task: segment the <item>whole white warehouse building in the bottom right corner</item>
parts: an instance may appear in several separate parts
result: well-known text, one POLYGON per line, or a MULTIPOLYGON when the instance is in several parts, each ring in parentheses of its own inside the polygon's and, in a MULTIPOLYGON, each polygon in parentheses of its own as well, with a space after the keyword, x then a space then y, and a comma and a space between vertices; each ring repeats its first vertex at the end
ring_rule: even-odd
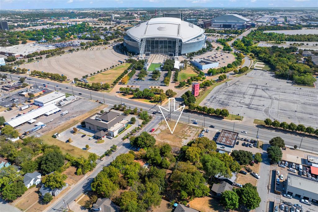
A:
POLYGON ((288 173, 286 179, 286 194, 294 197, 318 201, 318 181, 308 177, 288 173))

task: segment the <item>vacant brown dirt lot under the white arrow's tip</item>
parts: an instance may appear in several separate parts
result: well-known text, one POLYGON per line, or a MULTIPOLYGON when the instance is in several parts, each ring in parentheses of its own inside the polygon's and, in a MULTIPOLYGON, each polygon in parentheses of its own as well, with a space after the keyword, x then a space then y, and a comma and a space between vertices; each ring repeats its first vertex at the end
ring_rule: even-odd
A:
MULTIPOLYGON (((168 121, 170 129, 172 130, 176 122, 168 121)), ((199 127, 194 127, 184 123, 178 123, 176 129, 171 134, 166 122, 163 120, 152 136, 156 138, 156 143, 167 143, 174 147, 181 147, 186 145, 189 141, 197 137, 200 132, 199 127)))

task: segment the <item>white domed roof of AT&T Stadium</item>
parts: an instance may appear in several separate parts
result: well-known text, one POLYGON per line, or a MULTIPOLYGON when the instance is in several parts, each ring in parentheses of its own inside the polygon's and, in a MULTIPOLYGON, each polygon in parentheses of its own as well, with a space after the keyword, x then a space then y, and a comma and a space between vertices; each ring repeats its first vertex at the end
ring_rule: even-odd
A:
POLYGON ((132 39, 140 42, 143 38, 172 38, 186 42, 204 33, 204 29, 180 18, 152 18, 127 31, 132 39))

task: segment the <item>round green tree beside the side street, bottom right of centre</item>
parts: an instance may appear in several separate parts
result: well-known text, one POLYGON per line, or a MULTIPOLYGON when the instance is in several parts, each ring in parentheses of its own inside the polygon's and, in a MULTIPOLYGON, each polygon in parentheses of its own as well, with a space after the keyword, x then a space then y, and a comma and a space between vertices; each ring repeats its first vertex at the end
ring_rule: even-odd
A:
POLYGON ((242 188, 235 189, 239 196, 240 204, 244 205, 247 209, 253 210, 259 207, 261 198, 256 190, 256 187, 251 183, 246 183, 242 188))

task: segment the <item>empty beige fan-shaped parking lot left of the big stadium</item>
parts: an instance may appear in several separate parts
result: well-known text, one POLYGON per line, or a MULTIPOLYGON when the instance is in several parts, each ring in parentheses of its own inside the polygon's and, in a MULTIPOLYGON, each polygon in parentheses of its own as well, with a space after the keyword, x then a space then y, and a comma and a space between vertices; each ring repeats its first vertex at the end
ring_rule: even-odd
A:
POLYGON ((55 56, 48 59, 39 60, 25 65, 21 68, 30 70, 38 70, 50 73, 64 74, 70 79, 74 77, 81 78, 86 74, 97 72, 100 69, 109 68, 112 65, 119 64, 119 60, 123 61, 126 55, 117 53, 105 46, 92 47, 91 50, 80 50, 78 52, 66 53, 61 56, 55 56), (100 50, 96 50, 100 48, 100 50))

